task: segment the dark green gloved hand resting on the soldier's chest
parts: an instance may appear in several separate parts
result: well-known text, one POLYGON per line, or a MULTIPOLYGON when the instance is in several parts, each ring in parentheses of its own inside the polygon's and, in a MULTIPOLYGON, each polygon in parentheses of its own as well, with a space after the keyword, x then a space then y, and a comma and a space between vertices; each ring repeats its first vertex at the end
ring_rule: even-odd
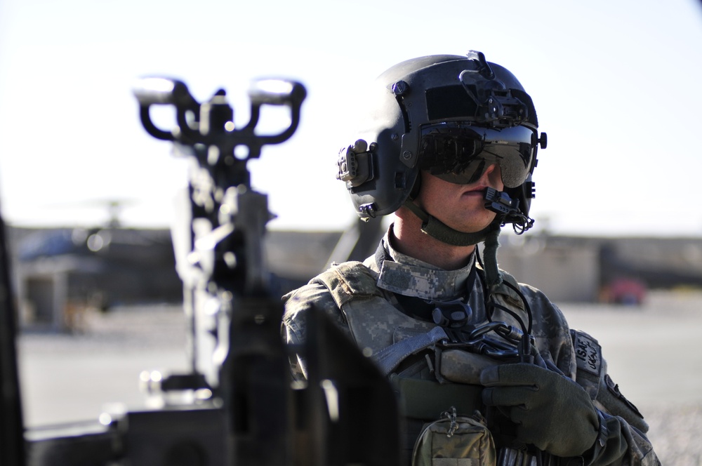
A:
POLYGON ((580 456, 597 439, 600 418, 583 388, 534 364, 503 364, 480 373, 482 399, 517 427, 517 440, 552 455, 580 456))

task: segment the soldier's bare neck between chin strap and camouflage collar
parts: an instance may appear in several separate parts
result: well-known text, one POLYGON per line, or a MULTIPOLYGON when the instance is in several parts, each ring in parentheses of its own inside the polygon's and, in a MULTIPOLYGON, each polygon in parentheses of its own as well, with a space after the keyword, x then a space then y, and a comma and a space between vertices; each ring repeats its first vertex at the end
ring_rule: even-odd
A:
POLYGON ((422 260, 444 270, 456 270, 468 265, 475 246, 451 246, 421 231, 416 215, 398 211, 392 228, 392 246, 398 252, 422 260))

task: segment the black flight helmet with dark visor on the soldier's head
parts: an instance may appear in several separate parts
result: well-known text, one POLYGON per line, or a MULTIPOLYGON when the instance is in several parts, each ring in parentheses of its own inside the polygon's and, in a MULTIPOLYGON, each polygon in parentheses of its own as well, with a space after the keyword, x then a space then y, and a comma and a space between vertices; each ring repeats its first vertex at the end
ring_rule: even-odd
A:
POLYGON ((418 192, 420 170, 470 183, 493 163, 528 218, 536 149, 546 140, 538 137, 531 98, 508 69, 474 51, 430 55, 391 67, 374 89, 355 142, 338 160, 337 178, 360 218, 397 211, 418 192))

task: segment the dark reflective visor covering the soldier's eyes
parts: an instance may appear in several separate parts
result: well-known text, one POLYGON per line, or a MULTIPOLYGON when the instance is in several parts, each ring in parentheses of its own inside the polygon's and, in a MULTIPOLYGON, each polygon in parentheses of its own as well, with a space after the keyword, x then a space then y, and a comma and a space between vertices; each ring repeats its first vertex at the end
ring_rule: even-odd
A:
POLYGON ((536 135, 524 126, 480 128, 460 122, 423 126, 419 168, 458 185, 476 182, 491 165, 500 166, 505 187, 527 179, 536 135))

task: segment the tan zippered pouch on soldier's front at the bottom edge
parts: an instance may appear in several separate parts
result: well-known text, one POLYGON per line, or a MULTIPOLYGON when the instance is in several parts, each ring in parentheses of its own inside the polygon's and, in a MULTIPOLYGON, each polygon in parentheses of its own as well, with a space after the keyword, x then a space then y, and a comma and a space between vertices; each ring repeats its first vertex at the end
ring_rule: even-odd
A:
POLYGON ((425 425, 414 445, 412 466, 494 466, 495 441, 479 413, 456 415, 456 408, 425 425))

